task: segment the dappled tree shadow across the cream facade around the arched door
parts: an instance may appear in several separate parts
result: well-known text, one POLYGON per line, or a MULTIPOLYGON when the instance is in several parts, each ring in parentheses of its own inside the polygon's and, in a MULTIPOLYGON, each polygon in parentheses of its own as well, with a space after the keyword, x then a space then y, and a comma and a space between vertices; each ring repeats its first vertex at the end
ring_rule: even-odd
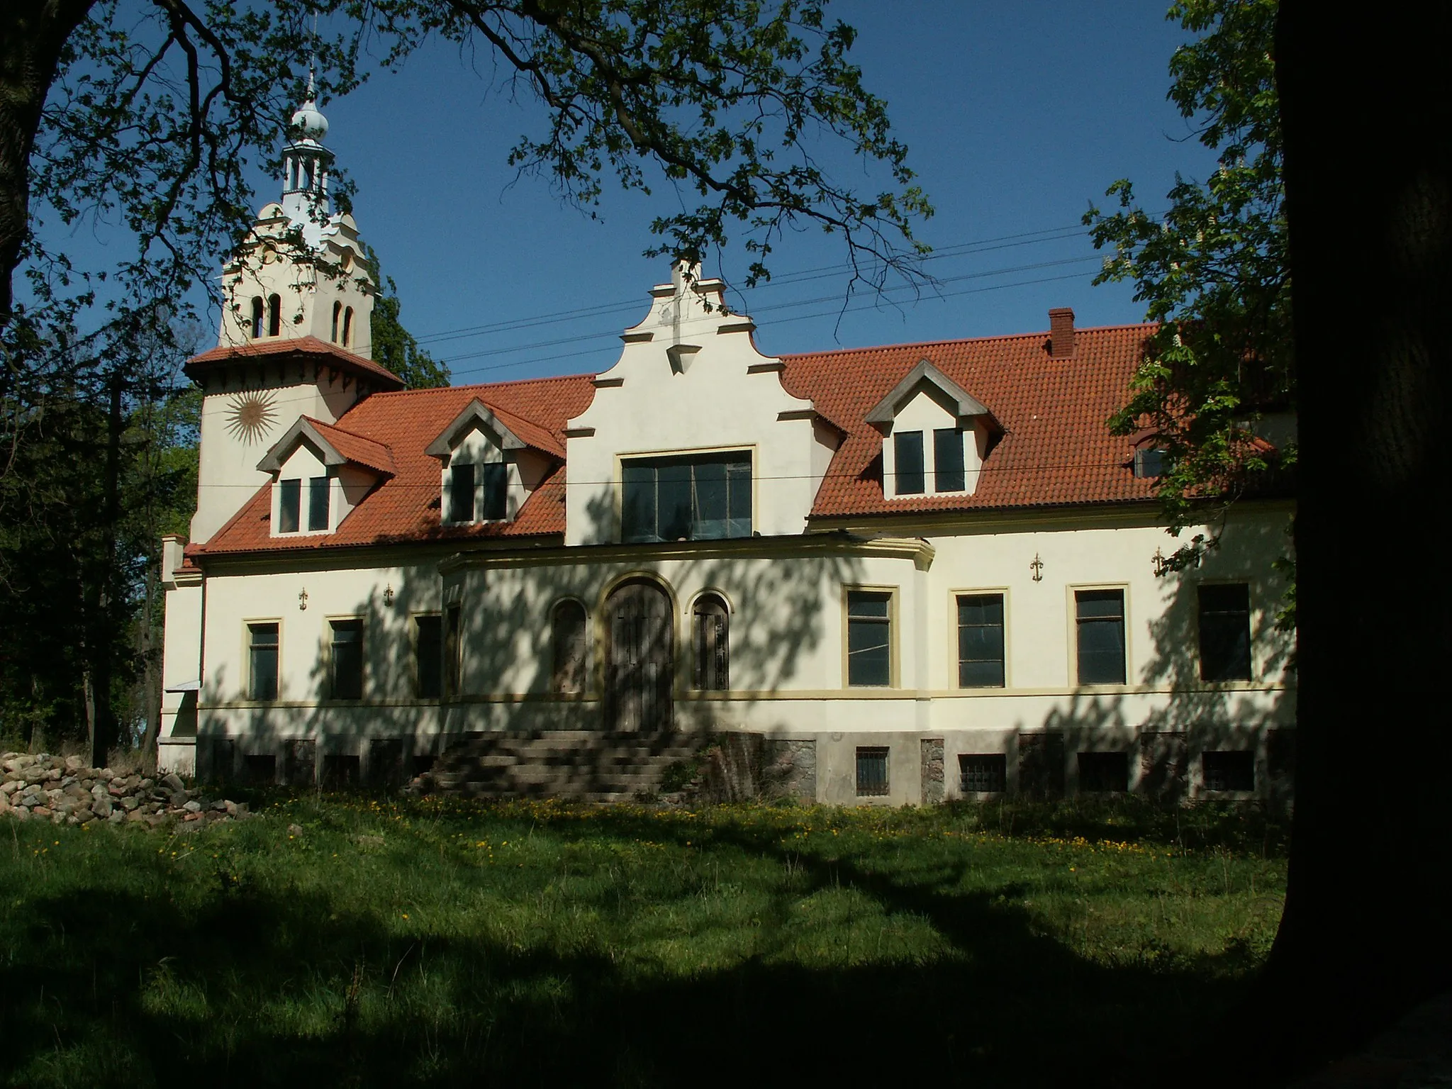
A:
MULTIPOLYGON (((590 517, 598 524, 614 515, 597 505, 590 517)), ((427 562, 402 571, 380 568, 375 575, 360 569, 357 582, 367 590, 357 597, 346 603, 322 601, 321 594, 309 598, 308 610, 324 616, 324 635, 315 645, 285 640, 285 655, 308 662, 305 693, 289 691, 277 703, 213 709, 211 714, 203 707, 199 775, 396 787, 427 770, 449 746, 485 735, 604 733, 610 682, 605 643, 611 637, 605 601, 611 588, 627 579, 655 581, 671 597, 674 732, 704 739, 739 729, 762 700, 793 682, 820 652, 828 626, 841 623, 841 587, 861 581, 862 563, 847 540, 803 558, 784 556, 775 542, 761 537, 706 544, 716 553, 722 552, 716 546, 723 546, 729 555, 691 558, 680 546, 636 546, 635 555, 621 560, 616 546, 584 546, 572 547, 563 562, 559 549, 539 556, 524 550, 521 558, 518 544, 501 540, 434 552, 427 562), (666 552, 669 559, 655 555, 666 552), (730 700, 703 697, 691 687, 691 605, 698 591, 720 594, 732 610, 730 700), (552 613, 566 600, 579 601, 590 621, 587 680, 584 690, 574 693, 556 691, 555 684, 552 613), (430 698, 420 694, 417 617, 446 617, 454 604, 462 620, 459 691, 430 698), (328 629, 341 617, 362 620, 363 700, 331 698, 328 629)), ((905 565, 910 569, 910 562, 905 565)), ((318 562, 317 569, 327 571, 327 562, 318 562)), ((833 674, 832 682, 836 680, 833 674)), ((227 693, 238 682, 221 665, 206 687, 212 694, 227 693)), ((784 722, 751 726, 765 733, 784 727, 784 722)), ((653 749, 680 743, 672 732, 629 741, 653 749)), ((576 778, 600 778, 619 752, 581 743, 572 759, 576 778)))

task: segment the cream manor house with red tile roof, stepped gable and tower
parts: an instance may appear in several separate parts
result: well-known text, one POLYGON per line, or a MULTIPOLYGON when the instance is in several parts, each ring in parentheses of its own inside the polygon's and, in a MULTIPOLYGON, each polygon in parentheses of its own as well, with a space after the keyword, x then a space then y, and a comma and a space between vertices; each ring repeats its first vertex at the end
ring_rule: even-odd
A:
POLYGON ((167 768, 385 780, 460 739, 759 735, 829 803, 1269 797, 1289 504, 1178 542, 1114 437, 1144 325, 767 356, 677 263, 598 375, 409 391, 370 359, 327 122, 224 269, 167 768), (569 733, 576 732, 576 733, 569 733))

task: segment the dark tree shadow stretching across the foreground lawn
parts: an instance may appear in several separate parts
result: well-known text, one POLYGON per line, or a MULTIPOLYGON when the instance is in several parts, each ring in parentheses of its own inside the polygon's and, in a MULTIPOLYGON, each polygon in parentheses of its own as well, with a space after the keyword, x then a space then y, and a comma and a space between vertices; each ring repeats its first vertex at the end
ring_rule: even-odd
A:
MULTIPOLYGON (((447 817, 441 817, 447 826, 447 817)), ((556 826, 563 838, 569 828, 556 826)), ((662 836, 621 812, 579 833, 662 836)), ((706 829, 681 828, 684 839, 706 829)), ((1021 889, 954 893, 970 865, 881 873, 780 828, 701 839, 796 874, 787 900, 852 889, 926 921, 954 957, 813 968, 756 955, 694 976, 652 973, 569 942, 414 938, 293 881, 180 900, 33 897, 0 970, 10 1083, 205 1085, 812 1083, 1156 1085, 1240 995, 1207 966, 1106 967, 1035 929, 1021 889), (258 1011, 266 1008, 266 1015, 258 1011), (22 1072, 22 1073, 17 1073, 22 1072), (54 1076, 48 1074, 54 1072, 54 1076), (15 1079, 22 1080, 16 1082, 15 1079)), ((423 845, 418 845, 423 847, 423 845)), ((441 851, 443 848, 440 848, 441 851)), ((16 902, 20 903, 20 902, 16 902)), ((17 925, 17 926, 16 926, 17 925)), ((770 947, 770 942, 765 945, 770 947)))

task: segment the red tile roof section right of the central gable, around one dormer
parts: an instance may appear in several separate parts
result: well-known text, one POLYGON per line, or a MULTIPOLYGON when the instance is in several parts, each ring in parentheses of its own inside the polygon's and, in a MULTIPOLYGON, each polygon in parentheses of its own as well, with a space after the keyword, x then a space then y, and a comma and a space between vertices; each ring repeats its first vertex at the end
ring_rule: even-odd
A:
POLYGON ((1056 507, 1149 499, 1156 482, 1133 472, 1134 441, 1105 421, 1128 399, 1153 325, 1074 331, 1074 353, 1050 354, 1050 334, 982 337, 783 356, 787 392, 809 398, 847 439, 817 491, 813 518, 1056 507), (883 436, 865 417, 929 360, 982 401, 1003 427, 973 495, 883 497, 883 436))

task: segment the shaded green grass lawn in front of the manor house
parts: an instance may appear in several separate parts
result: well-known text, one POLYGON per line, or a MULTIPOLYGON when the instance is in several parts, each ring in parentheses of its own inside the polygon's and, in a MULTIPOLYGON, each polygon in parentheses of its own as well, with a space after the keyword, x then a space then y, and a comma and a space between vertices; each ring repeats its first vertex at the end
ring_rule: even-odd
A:
POLYGON ((1130 799, 254 806, 0 822, 4 1083, 1163 1083, 1285 886, 1276 825, 1130 799))

